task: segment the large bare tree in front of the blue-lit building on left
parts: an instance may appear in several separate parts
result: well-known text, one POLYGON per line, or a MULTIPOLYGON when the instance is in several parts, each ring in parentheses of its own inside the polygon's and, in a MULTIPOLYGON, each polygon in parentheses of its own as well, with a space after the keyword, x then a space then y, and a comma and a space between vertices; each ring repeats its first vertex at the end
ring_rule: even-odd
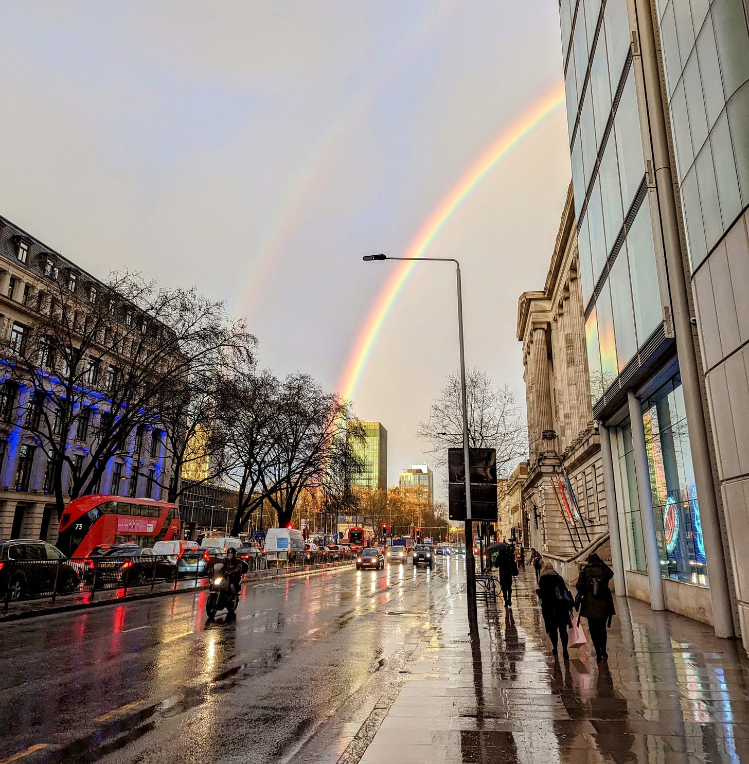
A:
POLYGON ((24 429, 47 452, 58 516, 64 494, 99 490, 112 457, 137 461, 139 427, 181 426, 164 416, 167 401, 254 342, 222 303, 126 271, 102 285, 55 270, 34 307, 34 323, 11 335, 5 360, 12 381, 33 391, 24 429))

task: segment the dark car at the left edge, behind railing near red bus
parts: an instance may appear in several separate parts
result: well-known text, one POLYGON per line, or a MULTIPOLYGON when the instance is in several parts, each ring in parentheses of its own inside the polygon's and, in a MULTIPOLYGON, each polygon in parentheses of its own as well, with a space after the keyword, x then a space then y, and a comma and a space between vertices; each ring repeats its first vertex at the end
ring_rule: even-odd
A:
POLYGON ((70 594, 81 580, 79 567, 56 546, 34 539, 0 543, 0 596, 12 601, 40 594, 70 594))

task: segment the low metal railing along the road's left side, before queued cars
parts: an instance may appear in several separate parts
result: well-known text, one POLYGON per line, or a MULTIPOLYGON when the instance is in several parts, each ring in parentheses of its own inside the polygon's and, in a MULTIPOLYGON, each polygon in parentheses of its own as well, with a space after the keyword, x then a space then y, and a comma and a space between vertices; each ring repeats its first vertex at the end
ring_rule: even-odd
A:
MULTIPOLYGON (((202 551, 202 550, 201 550, 202 551)), ((289 573, 316 570, 352 562, 356 555, 352 552, 271 552, 267 555, 242 557, 245 575, 260 571, 289 573)), ((178 588, 179 581, 192 579, 195 585, 207 580, 216 562, 223 557, 206 559, 200 555, 123 555, 92 558, 72 558, 57 560, 2 560, 0 561, 0 598, 4 609, 11 603, 30 599, 51 598, 72 594, 88 593, 89 601, 96 592, 121 590, 127 596, 132 589, 142 590, 155 584, 173 582, 178 588)))

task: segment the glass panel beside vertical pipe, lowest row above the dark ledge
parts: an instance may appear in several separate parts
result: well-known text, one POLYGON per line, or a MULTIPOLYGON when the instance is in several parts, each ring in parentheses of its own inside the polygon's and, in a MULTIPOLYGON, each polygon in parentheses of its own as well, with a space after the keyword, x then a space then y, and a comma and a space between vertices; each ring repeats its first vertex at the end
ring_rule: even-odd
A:
MULTIPOLYGON (((640 206, 631 228, 627 231, 626 245, 639 347, 663 321, 653 228, 650 225, 650 208, 647 205, 647 199, 640 206)), ((622 257, 622 254, 620 252, 619 257, 622 257)))

